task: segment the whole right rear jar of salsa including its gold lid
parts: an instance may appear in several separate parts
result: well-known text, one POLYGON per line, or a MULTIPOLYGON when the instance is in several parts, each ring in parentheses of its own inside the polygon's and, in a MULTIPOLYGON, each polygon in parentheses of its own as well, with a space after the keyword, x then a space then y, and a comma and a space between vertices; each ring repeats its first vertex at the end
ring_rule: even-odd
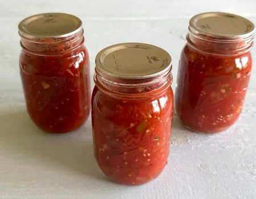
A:
POLYGON ((251 74, 254 29, 249 20, 227 13, 190 20, 175 92, 177 115, 185 126, 215 133, 237 120, 251 74))

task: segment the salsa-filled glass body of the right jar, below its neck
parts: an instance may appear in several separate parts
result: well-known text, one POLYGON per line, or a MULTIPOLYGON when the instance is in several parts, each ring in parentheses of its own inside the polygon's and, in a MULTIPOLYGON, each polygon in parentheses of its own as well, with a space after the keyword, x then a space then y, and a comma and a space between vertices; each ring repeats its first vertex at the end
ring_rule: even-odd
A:
MULTIPOLYGON (((203 42, 210 51, 192 47, 189 39, 181 52, 175 92, 175 109, 186 127, 196 132, 216 133, 239 117, 251 72, 249 51, 221 55, 214 43, 203 42)), ((229 49, 234 47, 229 44, 229 49)), ((221 49, 226 47, 221 43, 221 49)))

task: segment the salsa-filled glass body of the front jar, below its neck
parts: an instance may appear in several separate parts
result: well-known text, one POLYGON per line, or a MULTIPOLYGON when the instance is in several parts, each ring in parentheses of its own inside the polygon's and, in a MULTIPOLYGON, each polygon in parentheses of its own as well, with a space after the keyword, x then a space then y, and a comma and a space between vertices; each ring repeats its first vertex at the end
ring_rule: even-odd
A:
MULTIPOLYGON (((141 98, 92 94, 94 156, 115 183, 140 185, 155 179, 167 164, 174 95, 170 86, 141 98)), ((135 96, 134 94, 129 94, 135 96)))

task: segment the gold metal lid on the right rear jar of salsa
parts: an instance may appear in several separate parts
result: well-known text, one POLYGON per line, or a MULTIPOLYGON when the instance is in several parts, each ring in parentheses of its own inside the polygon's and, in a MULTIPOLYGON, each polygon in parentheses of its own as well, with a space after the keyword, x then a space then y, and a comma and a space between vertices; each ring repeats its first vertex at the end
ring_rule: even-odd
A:
POLYGON ((250 20, 229 13, 201 13, 189 21, 189 29, 216 38, 245 38, 254 34, 250 20))

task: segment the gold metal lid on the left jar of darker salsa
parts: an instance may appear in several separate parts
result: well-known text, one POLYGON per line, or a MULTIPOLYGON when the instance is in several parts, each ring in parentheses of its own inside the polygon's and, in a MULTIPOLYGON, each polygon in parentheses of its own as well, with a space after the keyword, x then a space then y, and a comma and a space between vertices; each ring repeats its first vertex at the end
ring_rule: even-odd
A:
POLYGON ((64 13, 44 13, 30 16, 19 23, 19 34, 26 38, 63 38, 82 29, 82 21, 64 13))

